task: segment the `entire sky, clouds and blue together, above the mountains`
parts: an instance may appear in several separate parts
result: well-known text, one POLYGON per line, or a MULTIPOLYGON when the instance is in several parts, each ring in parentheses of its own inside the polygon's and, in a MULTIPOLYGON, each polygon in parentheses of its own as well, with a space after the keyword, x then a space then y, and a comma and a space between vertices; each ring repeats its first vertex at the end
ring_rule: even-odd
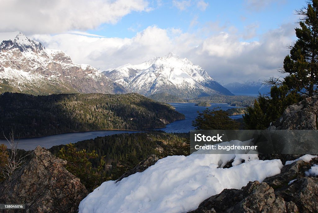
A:
POLYGON ((174 52, 226 84, 281 75, 286 47, 296 39, 295 10, 306 0, 5 0, 2 5, 0 39, 20 31, 100 71, 174 52))

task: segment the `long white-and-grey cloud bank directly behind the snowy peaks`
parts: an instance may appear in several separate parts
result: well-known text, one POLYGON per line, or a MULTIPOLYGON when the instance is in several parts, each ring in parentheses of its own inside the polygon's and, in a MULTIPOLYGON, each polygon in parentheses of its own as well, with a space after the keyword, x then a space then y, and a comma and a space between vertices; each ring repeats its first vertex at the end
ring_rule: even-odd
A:
POLYGON ((139 64, 155 56, 175 52, 203 67, 214 79, 229 83, 278 76, 287 45, 294 39, 295 24, 268 31, 259 41, 242 42, 242 35, 200 33, 149 26, 133 38, 99 38, 79 34, 33 35, 49 49, 61 49, 76 63, 106 70, 123 64, 139 64))

